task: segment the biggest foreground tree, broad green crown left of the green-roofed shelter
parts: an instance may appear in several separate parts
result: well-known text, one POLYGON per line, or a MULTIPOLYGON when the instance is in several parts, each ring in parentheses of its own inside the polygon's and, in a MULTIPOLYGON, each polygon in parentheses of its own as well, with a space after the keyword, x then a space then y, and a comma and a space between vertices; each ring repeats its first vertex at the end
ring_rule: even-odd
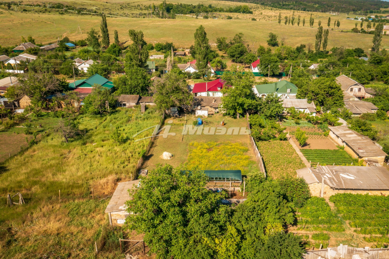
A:
MULTIPOLYGON (((226 231, 230 209, 221 205, 223 193, 205 188, 208 179, 200 170, 158 165, 129 190, 133 199, 126 201, 130 215, 125 228, 145 233, 143 239, 157 258, 215 258, 215 238, 226 231)), ((230 228, 223 240, 230 244, 234 239, 238 236, 230 228)))

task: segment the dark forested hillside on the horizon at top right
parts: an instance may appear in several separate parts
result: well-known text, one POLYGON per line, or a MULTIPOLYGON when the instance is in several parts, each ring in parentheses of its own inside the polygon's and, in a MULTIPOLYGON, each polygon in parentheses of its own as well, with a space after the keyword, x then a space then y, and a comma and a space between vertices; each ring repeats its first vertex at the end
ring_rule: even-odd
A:
POLYGON ((387 8, 388 2, 380 0, 296 0, 287 2, 284 0, 228 0, 233 2, 258 3, 261 5, 290 10, 302 10, 310 12, 355 12, 355 11, 370 11, 387 8))

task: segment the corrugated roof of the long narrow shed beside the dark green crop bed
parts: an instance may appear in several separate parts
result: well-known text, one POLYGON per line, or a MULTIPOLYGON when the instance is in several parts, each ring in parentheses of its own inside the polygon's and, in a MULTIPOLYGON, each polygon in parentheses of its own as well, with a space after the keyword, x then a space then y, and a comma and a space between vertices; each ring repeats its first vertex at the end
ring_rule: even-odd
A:
POLYGON ((353 131, 346 126, 328 127, 336 136, 345 142, 359 157, 387 156, 370 138, 353 131))

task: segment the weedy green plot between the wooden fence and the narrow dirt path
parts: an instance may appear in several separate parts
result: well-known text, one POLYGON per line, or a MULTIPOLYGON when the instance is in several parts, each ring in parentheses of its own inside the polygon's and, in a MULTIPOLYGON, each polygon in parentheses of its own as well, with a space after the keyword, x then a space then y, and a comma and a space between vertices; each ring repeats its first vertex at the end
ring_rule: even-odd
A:
POLYGON ((266 173, 273 179, 296 177, 296 170, 305 167, 287 141, 258 141, 256 144, 265 162, 266 173))

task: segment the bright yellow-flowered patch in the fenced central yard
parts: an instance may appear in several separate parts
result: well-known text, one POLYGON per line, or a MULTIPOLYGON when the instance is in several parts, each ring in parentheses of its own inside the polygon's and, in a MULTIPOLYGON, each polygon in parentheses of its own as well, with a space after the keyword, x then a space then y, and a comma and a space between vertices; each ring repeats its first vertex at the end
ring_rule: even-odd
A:
POLYGON ((236 142, 191 142, 187 168, 202 170, 242 170, 242 174, 258 172, 258 165, 247 155, 249 149, 236 142))

